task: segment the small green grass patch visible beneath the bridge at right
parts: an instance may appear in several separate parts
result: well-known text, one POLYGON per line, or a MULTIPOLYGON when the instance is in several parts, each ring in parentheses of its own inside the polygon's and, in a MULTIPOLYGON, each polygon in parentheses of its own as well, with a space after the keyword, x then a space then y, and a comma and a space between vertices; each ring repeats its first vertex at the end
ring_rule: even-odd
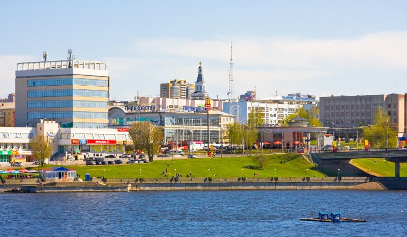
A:
MULTIPOLYGON (((353 159, 353 164, 376 176, 394 177, 394 163, 382 158, 353 159), (374 162, 376 160, 376 162, 374 162)), ((407 163, 400 163, 400 177, 407 177, 407 163)))

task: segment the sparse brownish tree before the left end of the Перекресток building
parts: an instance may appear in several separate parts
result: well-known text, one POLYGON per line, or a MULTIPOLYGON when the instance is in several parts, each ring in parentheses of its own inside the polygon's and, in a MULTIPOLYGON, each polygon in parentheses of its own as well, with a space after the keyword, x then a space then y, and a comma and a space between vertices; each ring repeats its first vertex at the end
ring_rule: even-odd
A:
POLYGON ((149 122, 135 122, 131 124, 129 134, 134 146, 146 150, 149 160, 152 162, 154 154, 158 154, 160 151, 164 138, 162 130, 149 122))

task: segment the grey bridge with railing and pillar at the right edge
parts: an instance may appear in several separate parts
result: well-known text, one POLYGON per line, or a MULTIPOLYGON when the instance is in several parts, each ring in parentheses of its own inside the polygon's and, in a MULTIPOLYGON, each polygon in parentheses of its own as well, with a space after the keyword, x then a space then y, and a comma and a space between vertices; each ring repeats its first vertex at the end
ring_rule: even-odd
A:
POLYGON ((350 161, 351 159, 361 158, 385 158, 387 161, 394 162, 394 176, 400 178, 400 163, 407 163, 407 150, 401 148, 394 149, 354 149, 354 150, 338 150, 319 151, 311 153, 313 158, 324 161, 350 161))

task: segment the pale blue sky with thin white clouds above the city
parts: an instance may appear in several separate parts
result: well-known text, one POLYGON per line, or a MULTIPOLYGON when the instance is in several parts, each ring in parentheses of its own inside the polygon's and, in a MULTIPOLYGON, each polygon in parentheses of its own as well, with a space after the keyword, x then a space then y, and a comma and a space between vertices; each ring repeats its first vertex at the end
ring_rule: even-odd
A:
POLYGON ((169 79, 235 96, 407 93, 407 1, 4 1, 0 97, 17 62, 105 61, 110 99, 156 96, 169 79))

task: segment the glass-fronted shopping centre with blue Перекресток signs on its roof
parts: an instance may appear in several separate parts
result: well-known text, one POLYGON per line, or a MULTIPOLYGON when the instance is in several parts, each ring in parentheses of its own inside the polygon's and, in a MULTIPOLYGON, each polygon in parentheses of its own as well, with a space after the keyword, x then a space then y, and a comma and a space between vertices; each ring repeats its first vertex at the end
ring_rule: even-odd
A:
MULTIPOLYGON (((109 127, 130 127, 134 122, 148 121, 159 126, 164 133, 164 143, 208 142, 208 115, 205 107, 182 106, 179 109, 156 110, 155 106, 113 106, 109 109, 109 127)), ((234 116, 222 111, 209 111, 210 142, 226 141, 227 125, 234 116), (223 140, 222 140, 223 139, 223 140)))

